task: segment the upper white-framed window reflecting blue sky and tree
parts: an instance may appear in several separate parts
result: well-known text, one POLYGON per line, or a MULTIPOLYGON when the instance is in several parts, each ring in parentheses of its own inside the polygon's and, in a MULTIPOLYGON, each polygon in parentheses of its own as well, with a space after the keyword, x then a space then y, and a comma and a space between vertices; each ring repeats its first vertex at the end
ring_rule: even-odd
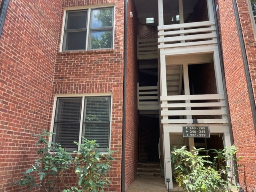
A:
POLYGON ((62 51, 112 48, 113 8, 67 11, 62 51))

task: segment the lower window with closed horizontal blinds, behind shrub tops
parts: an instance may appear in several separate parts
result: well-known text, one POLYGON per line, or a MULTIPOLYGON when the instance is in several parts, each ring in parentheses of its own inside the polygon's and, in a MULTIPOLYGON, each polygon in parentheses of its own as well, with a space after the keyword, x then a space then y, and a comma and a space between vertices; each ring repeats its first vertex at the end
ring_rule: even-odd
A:
POLYGON ((74 141, 96 140, 100 152, 110 144, 111 96, 57 97, 52 142, 68 152, 78 150, 74 141))

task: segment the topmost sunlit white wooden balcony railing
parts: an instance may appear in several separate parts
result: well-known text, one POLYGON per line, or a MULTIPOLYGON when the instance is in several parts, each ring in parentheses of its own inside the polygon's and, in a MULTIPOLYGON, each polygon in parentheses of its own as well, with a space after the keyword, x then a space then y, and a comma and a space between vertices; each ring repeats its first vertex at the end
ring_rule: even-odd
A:
POLYGON ((158 48, 177 48, 217 43, 213 21, 158 26, 158 48))

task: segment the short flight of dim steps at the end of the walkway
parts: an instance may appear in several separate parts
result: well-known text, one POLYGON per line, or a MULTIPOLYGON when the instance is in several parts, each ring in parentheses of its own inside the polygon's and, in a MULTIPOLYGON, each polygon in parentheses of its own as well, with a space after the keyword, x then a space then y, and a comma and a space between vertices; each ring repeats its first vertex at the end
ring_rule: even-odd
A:
POLYGON ((138 163, 137 177, 152 178, 161 177, 161 169, 159 163, 138 163))

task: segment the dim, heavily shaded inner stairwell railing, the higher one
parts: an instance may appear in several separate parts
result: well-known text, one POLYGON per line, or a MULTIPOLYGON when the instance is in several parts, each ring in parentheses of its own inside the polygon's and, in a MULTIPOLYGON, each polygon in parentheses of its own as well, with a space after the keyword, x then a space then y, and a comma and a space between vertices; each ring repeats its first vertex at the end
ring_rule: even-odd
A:
POLYGON ((138 39, 137 46, 138 60, 158 58, 157 38, 138 39))

